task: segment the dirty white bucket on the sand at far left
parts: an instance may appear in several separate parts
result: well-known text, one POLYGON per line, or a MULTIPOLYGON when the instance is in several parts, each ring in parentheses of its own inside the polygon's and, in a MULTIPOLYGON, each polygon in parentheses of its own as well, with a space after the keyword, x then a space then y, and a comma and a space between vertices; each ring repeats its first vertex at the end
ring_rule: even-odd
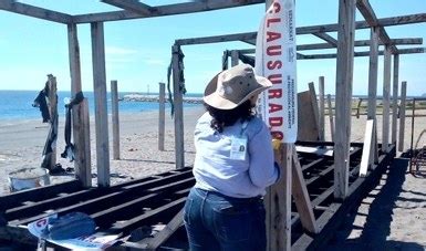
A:
POLYGON ((9 174, 10 191, 50 185, 49 170, 45 168, 22 168, 9 174))

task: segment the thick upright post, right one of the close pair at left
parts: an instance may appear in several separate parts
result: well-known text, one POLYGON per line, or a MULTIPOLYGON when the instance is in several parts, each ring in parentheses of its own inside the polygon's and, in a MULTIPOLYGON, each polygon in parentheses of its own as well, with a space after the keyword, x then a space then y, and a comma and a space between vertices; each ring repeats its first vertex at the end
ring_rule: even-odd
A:
POLYGON ((110 140, 106 107, 104 23, 91 23, 93 91, 95 100, 97 186, 110 186, 110 140))

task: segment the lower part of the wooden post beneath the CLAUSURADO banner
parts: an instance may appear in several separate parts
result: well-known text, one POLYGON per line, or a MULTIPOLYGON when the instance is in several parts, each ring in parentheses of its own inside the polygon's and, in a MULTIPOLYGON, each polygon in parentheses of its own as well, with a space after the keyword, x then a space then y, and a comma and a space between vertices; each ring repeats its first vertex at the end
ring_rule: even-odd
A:
POLYGON ((293 144, 280 144, 274 150, 281 179, 268 188, 264 197, 268 251, 291 250, 292 151, 293 144))

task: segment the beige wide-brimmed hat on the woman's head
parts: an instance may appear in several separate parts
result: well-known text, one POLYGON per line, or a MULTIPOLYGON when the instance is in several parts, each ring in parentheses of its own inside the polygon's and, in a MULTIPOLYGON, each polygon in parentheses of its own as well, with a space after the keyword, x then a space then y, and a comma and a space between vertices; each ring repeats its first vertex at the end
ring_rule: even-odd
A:
POLYGON ((204 101, 218 109, 233 109, 271 86, 268 79, 254 75, 250 65, 239 64, 220 72, 208 83, 204 101))

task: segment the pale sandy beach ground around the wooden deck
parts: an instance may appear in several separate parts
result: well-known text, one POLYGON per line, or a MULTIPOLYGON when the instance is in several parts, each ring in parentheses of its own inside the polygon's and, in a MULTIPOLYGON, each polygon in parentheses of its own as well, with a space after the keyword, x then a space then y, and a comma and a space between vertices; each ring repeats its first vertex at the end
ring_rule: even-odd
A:
MULTIPOLYGON (((204 113, 200 107, 186 108, 185 128, 185 165, 191 166, 195 157, 193 132, 197 118, 204 113)), ((64 149, 63 121, 60 118, 58 156, 64 149)), ((91 117, 92 172, 96 172, 94 121, 91 117)), ((111 119, 110 119, 111 121, 111 119)), ((121 122, 121 159, 111 160, 111 182, 152 176, 175 168, 174 126, 169 114, 166 114, 165 150, 158 150, 158 114, 157 112, 127 113, 120 115, 121 122)), ((382 138, 382 118, 377 118, 377 136, 382 138)), ((330 140, 329 118, 325 117, 325 139, 330 140)), ((416 118, 414 143, 419 133, 426 128, 426 117, 416 118)), ((40 119, 12 121, 0 123, 0 195, 9 194, 8 174, 24 167, 39 167, 41 153, 48 135, 48 124, 40 119)), ((110 132, 112 130, 110 125, 110 132)), ((352 119, 353 142, 363 142, 365 116, 352 119)), ((110 133, 110 135, 112 135, 110 133)), ((110 136, 112 142, 112 136, 110 136)), ((426 144, 426 135, 419 146, 426 144)), ((404 147, 411 145, 411 118, 405 126, 404 147)), ((112 157, 112 145, 110 147, 112 157)), ((73 167, 73 163, 58 157, 63 168, 73 167)), ((337 244, 355 243, 352 248, 365 249, 376 243, 375 248, 388 247, 388 250, 426 245, 426 178, 406 172, 406 161, 397 160, 398 168, 391 169, 382 177, 381 184, 364 199, 359 208, 345 219, 337 244), (404 166, 405 165, 405 166, 404 166), (373 238, 375 237, 375 239, 373 238)), ((58 184, 73 178, 73 174, 51 176, 51 182, 58 184)), ((92 179, 96 185, 96 178, 92 179)), ((420 249, 417 249, 420 248, 420 249)), ((381 249, 378 249, 381 250, 381 249)), ((404 249, 402 249, 404 250, 404 249)), ((412 250, 412 249, 411 249, 412 250)))

